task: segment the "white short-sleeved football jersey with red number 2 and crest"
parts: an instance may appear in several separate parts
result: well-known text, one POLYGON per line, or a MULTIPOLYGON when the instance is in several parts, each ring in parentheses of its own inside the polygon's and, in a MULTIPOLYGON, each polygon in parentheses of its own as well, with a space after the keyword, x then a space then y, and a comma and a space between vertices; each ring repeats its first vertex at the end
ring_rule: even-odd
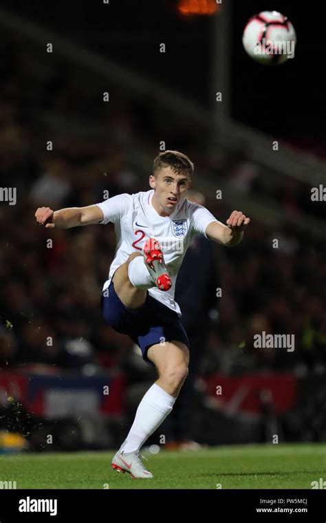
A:
POLYGON ((155 238, 162 246, 172 286, 169 290, 149 288, 149 294, 181 316, 180 307, 174 301, 178 270, 193 235, 202 233, 207 238, 206 227, 218 220, 208 209, 186 198, 175 205, 171 215, 160 216, 151 204, 153 194, 154 189, 135 194, 124 193, 96 204, 104 214, 100 224, 113 222, 117 239, 116 254, 103 290, 109 287, 115 270, 127 261, 129 255, 135 251, 142 253, 146 240, 155 238))

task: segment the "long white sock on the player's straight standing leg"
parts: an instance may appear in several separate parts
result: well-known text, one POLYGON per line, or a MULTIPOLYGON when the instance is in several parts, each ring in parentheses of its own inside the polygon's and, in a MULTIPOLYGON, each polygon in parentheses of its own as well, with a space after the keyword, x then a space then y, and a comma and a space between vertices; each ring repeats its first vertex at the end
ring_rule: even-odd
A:
POLYGON ((154 383, 138 405, 135 420, 120 451, 139 451, 149 436, 170 414, 176 399, 154 383))

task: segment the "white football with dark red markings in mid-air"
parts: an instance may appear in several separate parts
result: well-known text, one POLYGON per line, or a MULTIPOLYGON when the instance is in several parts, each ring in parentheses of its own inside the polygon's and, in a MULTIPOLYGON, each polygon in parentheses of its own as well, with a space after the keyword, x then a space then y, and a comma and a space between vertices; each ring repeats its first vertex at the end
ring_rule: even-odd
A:
POLYGON ((243 30, 243 47, 251 58, 265 65, 294 58, 296 32, 290 20, 277 11, 262 11, 243 30))

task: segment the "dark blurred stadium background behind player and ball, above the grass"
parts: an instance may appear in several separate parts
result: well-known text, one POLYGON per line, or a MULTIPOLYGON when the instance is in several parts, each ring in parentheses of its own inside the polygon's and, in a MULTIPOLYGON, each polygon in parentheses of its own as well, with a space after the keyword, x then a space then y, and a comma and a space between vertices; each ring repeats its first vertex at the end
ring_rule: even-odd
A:
POLYGON ((325 183, 321 21, 303 30, 297 3, 276 2, 298 45, 293 61, 264 68, 241 32, 270 3, 224 2, 211 17, 178 5, 1 2, 0 186, 17 187, 17 205, 0 203, 3 451, 114 448, 153 382, 100 313, 113 226, 50 233, 34 212, 146 190, 162 141, 195 162, 193 188, 219 220, 233 209, 252 218, 237 248, 214 246, 223 295, 198 368, 193 437, 326 440, 325 202, 311 200, 325 183), (255 349, 262 331, 294 334, 294 352, 255 349))

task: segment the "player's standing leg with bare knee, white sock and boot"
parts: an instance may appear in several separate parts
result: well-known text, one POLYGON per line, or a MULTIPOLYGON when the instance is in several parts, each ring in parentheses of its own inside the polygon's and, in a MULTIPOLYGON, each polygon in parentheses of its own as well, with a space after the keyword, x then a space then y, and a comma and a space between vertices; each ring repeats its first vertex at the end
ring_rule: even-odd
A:
POLYGON ((129 434, 112 460, 113 469, 135 478, 153 478, 140 460, 140 448, 172 411, 188 374, 189 351, 181 341, 155 343, 147 356, 159 378, 142 398, 129 434))

